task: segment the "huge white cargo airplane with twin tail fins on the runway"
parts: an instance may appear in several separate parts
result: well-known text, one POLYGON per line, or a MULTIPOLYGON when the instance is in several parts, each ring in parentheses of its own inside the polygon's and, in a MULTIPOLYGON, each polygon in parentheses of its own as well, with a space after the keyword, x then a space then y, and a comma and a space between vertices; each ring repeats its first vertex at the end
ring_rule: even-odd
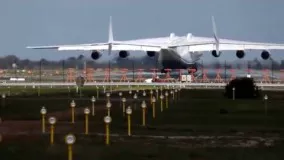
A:
POLYGON ((57 49, 59 51, 90 51, 91 57, 98 60, 102 56, 102 51, 118 51, 119 57, 127 58, 129 51, 145 51, 148 57, 158 58, 158 68, 164 69, 188 69, 197 70, 196 62, 204 52, 211 53, 214 57, 219 57, 221 51, 236 51, 238 58, 244 58, 247 50, 261 50, 261 57, 265 60, 270 58, 270 50, 283 50, 284 44, 257 43, 247 41, 236 41, 229 39, 219 39, 217 36, 214 17, 212 16, 213 38, 196 37, 191 33, 187 36, 175 36, 171 33, 169 37, 135 39, 127 41, 117 41, 113 39, 112 18, 109 22, 109 39, 104 43, 57 45, 57 46, 29 46, 31 49, 57 49))

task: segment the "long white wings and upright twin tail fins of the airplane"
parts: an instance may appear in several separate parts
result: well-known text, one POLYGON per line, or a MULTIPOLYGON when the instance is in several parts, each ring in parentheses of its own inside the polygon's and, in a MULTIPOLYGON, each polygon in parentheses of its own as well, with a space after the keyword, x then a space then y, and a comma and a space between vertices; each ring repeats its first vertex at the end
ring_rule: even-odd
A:
POLYGON ((56 45, 56 46, 34 46, 27 47, 30 49, 57 49, 59 51, 155 51, 158 52, 163 48, 176 48, 180 46, 187 46, 190 52, 202 51, 231 51, 231 50, 275 50, 284 49, 284 44, 273 43, 256 43, 246 41, 235 41, 228 39, 219 39, 216 31, 216 24, 212 16, 214 38, 193 37, 189 40, 178 38, 175 42, 159 42, 154 41, 114 41, 112 32, 112 20, 110 17, 109 23, 109 40, 106 43, 91 43, 91 44, 75 44, 75 45, 56 45))

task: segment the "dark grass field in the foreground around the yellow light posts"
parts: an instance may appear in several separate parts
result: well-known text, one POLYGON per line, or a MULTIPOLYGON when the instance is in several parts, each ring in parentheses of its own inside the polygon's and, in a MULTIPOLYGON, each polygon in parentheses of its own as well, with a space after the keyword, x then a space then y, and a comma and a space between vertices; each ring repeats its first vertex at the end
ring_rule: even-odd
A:
MULTIPOLYGON (((132 96, 127 105, 133 107, 132 137, 127 136, 127 119, 122 115, 120 99, 113 92, 111 102, 111 145, 104 144, 103 117, 106 115, 105 96, 100 90, 96 101, 96 116, 90 116, 90 134, 84 135, 83 108, 90 107, 96 88, 83 89, 76 95, 74 88, 36 89, 13 88, 0 90, 11 96, 1 103, 3 141, 1 159, 67 159, 64 136, 74 133, 74 159, 283 159, 284 158, 284 94, 265 92, 269 99, 267 114, 262 99, 231 100, 222 90, 182 90, 178 100, 170 98, 169 108, 160 111, 156 103, 156 118, 148 95, 138 94, 134 108, 132 96), (70 102, 74 99, 76 122, 70 123, 70 102), (146 127, 141 126, 141 100, 147 102, 146 127), (49 134, 41 134, 40 108, 45 106, 48 116, 56 116, 55 144, 49 144, 49 134), (227 113, 220 113, 226 110, 227 113)), ((135 93, 135 92, 133 92, 135 93)), ((164 103, 165 107, 165 103, 164 103)), ((47 131, 49 125, 47 125, 47 131)))

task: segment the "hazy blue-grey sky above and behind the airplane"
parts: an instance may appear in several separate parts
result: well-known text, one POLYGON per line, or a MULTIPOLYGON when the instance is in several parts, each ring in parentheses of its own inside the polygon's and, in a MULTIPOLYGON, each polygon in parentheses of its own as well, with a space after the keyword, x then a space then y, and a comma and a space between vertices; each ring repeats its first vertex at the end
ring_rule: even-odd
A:
MULTIPOLYGON (((171 32, 211 37, 214 15, 220 38, 284 43, 283 7, 283 0, 1 0, 0 56, 62 59, 79 55, 25 47, 104 42, 110 15, 116 40, 171 32)), ((249 53, 249 59, 260 57, 260 52, 249 53)), ((272 55, 284 59, 282 52, 272 55)), ((213 59, 209 54, 206 58, 213 59)), ((235 54, 221 59, 229 58, 237 59, 235 54)))

